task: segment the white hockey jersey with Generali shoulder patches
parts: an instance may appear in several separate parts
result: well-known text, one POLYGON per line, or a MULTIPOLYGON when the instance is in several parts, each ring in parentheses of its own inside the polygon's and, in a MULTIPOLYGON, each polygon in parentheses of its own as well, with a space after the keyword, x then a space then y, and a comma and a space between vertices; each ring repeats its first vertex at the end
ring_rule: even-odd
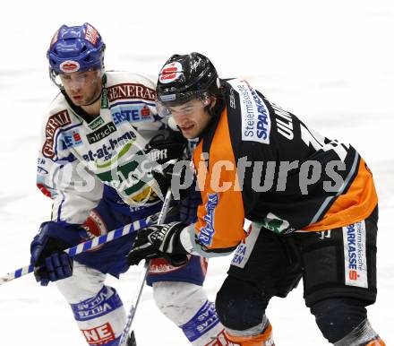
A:
POLYGON ((77 114, 59 93, 44 119, 37 185, 54 200, 52 221, 81 224, 104 185, 132 210, 160 202, 142 152, 167 128, 157 113, 155 83, 127 72, 107 72, 103 81, 99 117, 77 114))

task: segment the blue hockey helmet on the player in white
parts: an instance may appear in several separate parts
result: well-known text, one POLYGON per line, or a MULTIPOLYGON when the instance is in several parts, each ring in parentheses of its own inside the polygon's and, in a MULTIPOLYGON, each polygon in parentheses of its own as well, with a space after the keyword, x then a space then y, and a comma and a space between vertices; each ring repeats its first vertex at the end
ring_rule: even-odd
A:
POLYGON ((99 31, 90 23, 62 25, 47 50, 51 79, 55 82, 58 74, 104 69, 105 48, 99 31))

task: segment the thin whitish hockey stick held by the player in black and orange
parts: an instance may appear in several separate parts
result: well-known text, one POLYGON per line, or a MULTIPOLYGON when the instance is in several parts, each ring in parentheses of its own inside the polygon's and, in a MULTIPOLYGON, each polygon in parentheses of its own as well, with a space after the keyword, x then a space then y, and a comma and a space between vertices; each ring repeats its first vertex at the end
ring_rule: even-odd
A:
MULTIPOLYGON (((168 207, 169 207, 170 202, 171 202, 171 188, 168 188, 166 198, 163 203, 163 207, 161 208, 161 212, 158 215, 158 225, 164 223, 164 221, 166 220, 167 211, 168 211, 168 207)), ((122 336, 120 338, 118 346, 125 346, 126 345, 128 335, 129 335, 130 330, 132 328, 135 311, 137 309, 138 303, 141 298, 142 289, 145 284, 145 280, 148 276, 149 268, 150 268, 150 261, 146 260, 145 264, 143 265, 143 269, 142 269, 141 277, 140 277, 140 282, 138 283, 137 291, 136 291, 135 297, 133 299, 133 304, 130 307, 129 315, 127 316, 126 323, 124 324, 124 330, 122 332, 122 336)))

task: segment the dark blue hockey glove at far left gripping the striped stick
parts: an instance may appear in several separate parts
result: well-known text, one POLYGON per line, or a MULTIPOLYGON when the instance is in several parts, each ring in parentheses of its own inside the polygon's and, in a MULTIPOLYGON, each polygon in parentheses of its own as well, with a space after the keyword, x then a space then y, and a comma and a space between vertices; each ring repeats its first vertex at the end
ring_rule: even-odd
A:
POLYGON ((44 222, 30 244, 30 265, 42 286, 73 274, 73 259, 64 249, 81 242, 81 227, 65 222, 44 222))

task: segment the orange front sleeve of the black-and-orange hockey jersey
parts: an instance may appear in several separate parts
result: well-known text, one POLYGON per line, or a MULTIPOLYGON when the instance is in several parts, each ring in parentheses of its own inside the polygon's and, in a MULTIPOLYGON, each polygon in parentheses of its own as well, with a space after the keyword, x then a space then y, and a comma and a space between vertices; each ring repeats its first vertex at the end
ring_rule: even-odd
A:
POLYGON ((226 111, 220 117, 210 145, 209 159, 203 142, 193 153, 202 204, 195 225, 197 241, 208 249, 236 247, 244 238, 244 203, 236 175, 236 159, 228 133, 226 111))

